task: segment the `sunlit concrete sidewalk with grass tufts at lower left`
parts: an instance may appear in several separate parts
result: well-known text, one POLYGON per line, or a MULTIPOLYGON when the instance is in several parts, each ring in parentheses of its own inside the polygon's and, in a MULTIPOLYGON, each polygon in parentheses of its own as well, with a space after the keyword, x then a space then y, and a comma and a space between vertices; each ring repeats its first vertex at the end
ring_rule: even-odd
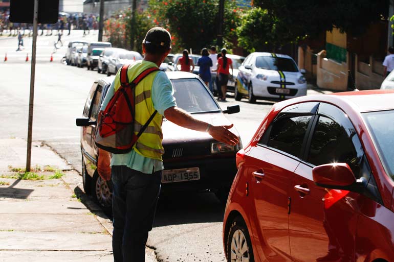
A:
POLYGON ((112 222, 83 193, 81 176, 40 142, 25 173, 26 146, 0 139, 0 261, 113 261, 112 222))

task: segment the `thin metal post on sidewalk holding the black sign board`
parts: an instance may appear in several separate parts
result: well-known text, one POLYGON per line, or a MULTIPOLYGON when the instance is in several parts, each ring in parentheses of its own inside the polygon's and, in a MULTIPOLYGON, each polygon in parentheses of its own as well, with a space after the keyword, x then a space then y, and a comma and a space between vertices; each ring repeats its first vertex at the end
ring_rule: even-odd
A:
POLYGON ((32 48, 31 73, 30 73, 29 124, 28 124, 28 133, 27 133, 26 172, 30 172, 30 162, 31 162, 31 144, 32 144, 32 131, 33 131, 34 77, 35 77, 35 69, 36 69, 37 24, 38 24, 37 22, 38 22, 38 0, 34 0, 33 48, 32 48))

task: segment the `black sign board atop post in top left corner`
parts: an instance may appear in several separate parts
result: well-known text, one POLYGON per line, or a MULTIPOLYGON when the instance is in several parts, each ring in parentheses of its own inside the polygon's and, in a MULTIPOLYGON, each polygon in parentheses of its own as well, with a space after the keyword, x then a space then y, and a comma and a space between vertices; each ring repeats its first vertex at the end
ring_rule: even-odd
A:
MULTIPOLYGON (((11 0, 10 21, 33 23, 34 0, 11 0)), ((56 23, 59 0, 38 0, 38 23, 56 23)))

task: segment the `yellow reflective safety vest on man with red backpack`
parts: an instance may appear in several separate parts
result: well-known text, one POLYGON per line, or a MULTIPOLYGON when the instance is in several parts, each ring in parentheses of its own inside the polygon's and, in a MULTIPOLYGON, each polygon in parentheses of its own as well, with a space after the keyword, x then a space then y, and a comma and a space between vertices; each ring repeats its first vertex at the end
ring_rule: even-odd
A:
MULTIPOLYGON (((128 79, 135 79, 145 69, 157 66, 154 63, 147 61, 139 61, 128 67, 128 79)), ((151 100, 151 88, 155 77, 159 72, 153 72, 145 77, 135 88, 135 134, 141 127, 148 121, 149 117, 155 112, 154 105, 151 100)), ((120 86, 119 72, 115 78, 115 91, 120 86)), ((134 145, 133 149, 140 155, 148 158, 162 160, 164 148, 162 145, 163 133, 161 129, 163 116, 156 114, 153 120, 149 123, 145 131, 141 134, 140 138, 134 145)))

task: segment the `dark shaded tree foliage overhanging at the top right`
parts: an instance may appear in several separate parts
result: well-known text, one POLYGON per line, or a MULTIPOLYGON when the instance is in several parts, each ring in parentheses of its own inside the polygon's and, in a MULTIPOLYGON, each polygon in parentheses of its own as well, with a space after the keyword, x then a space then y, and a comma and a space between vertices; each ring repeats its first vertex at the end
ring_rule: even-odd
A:
POLYGON ((296 39, 316 36, 336 26, 354 35, 387 18, 389 0, 255 0, 254 5, 269 10, 288 25, 288 34, 296 39))

